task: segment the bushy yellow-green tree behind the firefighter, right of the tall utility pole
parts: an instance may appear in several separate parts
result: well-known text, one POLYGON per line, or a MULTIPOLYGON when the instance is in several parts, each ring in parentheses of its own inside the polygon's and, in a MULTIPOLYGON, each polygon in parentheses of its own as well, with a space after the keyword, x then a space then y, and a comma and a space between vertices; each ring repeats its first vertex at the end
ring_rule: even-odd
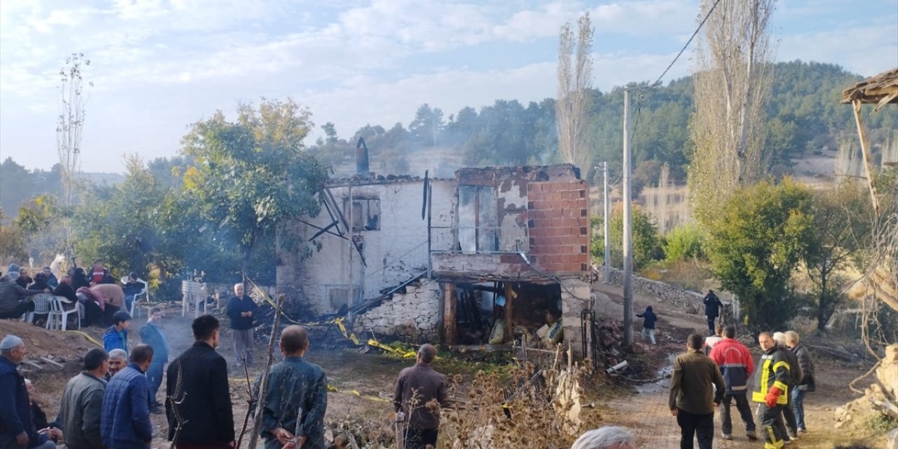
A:
POLYGON ((814 238, 813 194, 790 178, 736 189, 710 221, 709 259, 755 329, 791 318, 792 272, 814 238))

